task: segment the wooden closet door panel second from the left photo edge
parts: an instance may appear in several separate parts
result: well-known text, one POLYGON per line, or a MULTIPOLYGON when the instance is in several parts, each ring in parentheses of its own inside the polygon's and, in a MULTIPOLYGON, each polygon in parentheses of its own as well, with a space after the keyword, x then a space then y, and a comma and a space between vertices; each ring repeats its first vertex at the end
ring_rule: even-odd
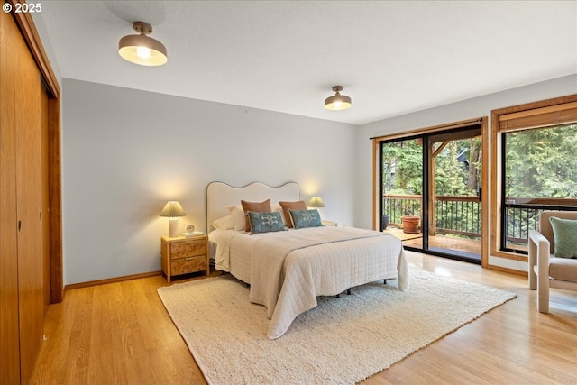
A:
POLYGON ((22 380, 27 381, 41 344, 44 321, 41 75, 23 39, 15 48, 20 370, 22 380))

